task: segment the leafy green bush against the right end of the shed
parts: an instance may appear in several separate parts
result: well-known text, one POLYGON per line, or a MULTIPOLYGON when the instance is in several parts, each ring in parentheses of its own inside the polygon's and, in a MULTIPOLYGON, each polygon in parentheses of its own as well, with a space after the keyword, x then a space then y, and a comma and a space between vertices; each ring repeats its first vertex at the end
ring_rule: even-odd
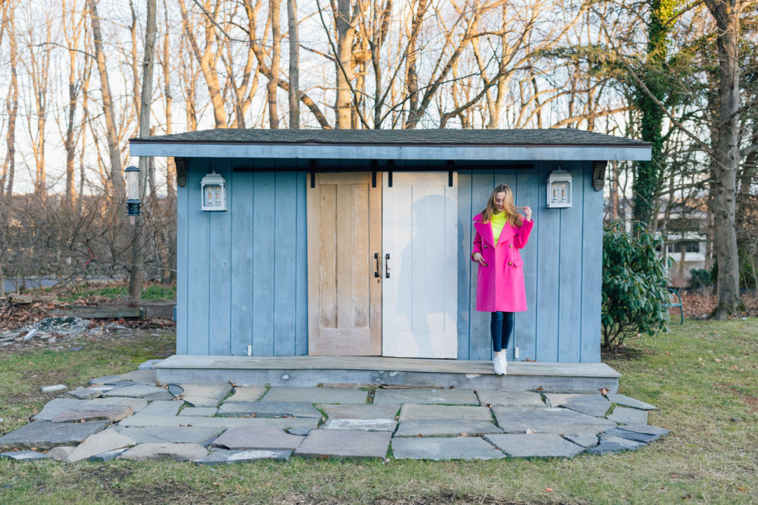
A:
POLYGON ((669 292, 665 259, 656 247, 663 241, 641 223, 634 234, 613 221, 603 234, 603 347, 615 351, 628 337, 668 331, 669 292))

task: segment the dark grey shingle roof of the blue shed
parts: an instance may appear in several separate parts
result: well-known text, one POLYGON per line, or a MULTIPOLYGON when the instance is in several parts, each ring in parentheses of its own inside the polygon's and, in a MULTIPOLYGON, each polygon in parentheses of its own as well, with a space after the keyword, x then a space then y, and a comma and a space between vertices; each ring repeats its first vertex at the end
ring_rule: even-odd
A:
POLYGON ((131 139, 131 143, 298 145, 625 146, 650 143, 584 130, 200 130, 131 139))

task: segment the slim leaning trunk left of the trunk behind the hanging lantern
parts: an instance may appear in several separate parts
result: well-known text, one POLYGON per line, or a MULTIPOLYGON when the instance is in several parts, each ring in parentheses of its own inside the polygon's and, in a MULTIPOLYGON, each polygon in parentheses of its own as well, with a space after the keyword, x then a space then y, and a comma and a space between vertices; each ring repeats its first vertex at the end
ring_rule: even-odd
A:
POLYGON ((108 140, 108 155, 111 162, 111 187, 114 199, 121 202, 124 199, 124 179, 121 174, 121 150, 118 146, 118 136, 111 96, 111 86, 108 81, 108 68, 105 67, 105 52, 102 48, 102 30, 100 16, 97 11, 97 0, 87 0, 89 17, 92 20, 92 41, 95 42, 95 58, 100 74, 100 93, 102 94, 102 111, 105 116, 105 138, 108 140))

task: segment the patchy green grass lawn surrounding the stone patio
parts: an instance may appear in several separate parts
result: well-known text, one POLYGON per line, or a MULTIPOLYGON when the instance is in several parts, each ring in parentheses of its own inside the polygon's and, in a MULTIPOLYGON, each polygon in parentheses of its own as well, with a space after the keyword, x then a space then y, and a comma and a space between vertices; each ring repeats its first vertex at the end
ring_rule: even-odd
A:
MULTIPOLYGON (((45 401, 39 387, 134 369, 171 353, 172 336, 135 332, 60 350, 0 350, 0 432, 45 401), (155 336, 151 336, 155 335, 155 336)), ((572 460, 190 463, 0 460, 0 503, 756 503, 758 318, 688 320, 603 360, 619 392, 659 406, 671 433, 632 453, 572 460), (733 420, 735 419, 735 420, 733 420), (553 491, 547 491, 551 488, 553 491)))

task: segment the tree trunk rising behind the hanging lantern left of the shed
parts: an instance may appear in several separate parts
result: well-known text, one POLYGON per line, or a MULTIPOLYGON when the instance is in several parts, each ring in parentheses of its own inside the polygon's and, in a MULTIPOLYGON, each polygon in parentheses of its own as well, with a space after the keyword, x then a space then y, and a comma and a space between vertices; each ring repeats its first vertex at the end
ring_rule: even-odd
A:
MULTIPOLYGON (((150 134, 150 105, 152 105, 152 61, 155 58, 155 0, 147 0, 147 22, 145 25, 145 48, 143 55, 142 98, 139 107, 139 136, 150 134)), ((146 202, 149 158, 139 157, 139 199, 146 202)), ((153 196, 153 195, 151 195, 153 196)), ((145 281, 145 231, 143 216, 134 222, 132 241, 132 268, 129 271, 129 298, 139 302, 145 281)))

